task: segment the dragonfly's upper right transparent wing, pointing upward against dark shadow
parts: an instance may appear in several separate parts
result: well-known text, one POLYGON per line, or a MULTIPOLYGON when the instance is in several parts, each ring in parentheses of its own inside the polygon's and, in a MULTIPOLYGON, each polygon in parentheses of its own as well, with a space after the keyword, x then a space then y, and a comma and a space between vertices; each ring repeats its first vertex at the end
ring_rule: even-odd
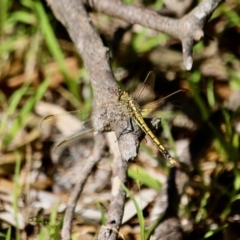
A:
POLYGON ((137 87, 136 91, 132 94, 133 98, 136 99, 140 105, 153 101, 155 98, 153 91, 154 84, 155 74, 153 71, 150 71, 144 82, 137 87))

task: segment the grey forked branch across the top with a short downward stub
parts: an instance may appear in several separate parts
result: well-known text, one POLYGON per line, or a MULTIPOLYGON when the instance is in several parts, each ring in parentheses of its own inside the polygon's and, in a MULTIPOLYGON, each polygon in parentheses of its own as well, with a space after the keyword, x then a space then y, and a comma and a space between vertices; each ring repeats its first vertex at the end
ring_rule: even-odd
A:
POLYGON ((222 0, 203 0, 181 19, 163 17, 154 11, 125 4, 120 0, 85 0, 85 2, 96 11, 165 32, 179 39, 182 43, 184 65, 190 70, 193 63, 193 44, 203 38, 203 27, 222 0))

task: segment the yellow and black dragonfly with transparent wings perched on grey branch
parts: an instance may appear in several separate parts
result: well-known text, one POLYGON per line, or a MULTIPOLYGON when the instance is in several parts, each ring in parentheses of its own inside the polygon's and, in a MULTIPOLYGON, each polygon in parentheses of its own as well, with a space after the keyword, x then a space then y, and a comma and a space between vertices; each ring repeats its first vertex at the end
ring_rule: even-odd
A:
MULTIPOLYGON (((140 87, 130 95, 127 91, 118 89, 115 93, 118 105, 114 106, 114 108, 120 108, 123 115, 121 114, 122 119, 133 119, 134 122, 142 129, 142 131, 149 136, 151 141, 157 146, 158 150, 162 153, 164 158, 172 165, 178 165, 176 159, 174 159, 168 150, 161 144, 159 139, 155 136, 153 131, 148 127, 145 118, 155 118, 158 113, 160 106, 165 103, 165 100, 177 93, 186 91, 185 89, 179 89, 164 98, 157 99, 154 101, 153 87, 155 84, 155 74, 150 71, 145 78, 144 82, 140 85, 140 87), (146 103, 147 102, 147 103, 146 103)), ((98 107, 95 109, 94 114, 98 113, 98 109, 101 110, 104 106, 98 107)), ((106 106, 105 106, 106 107, 106 106)), ((42 128, 49 128, 52 126, 57 127, 58 124, 65 123, 67 124, 70 118, 74 118, 76 121, 80 121, 83 124, 83 130, 78 134, 71 136, 64 141, 60 142, 56 149, 55 153, 59 153, 62 149, 65 149, 72 145, 73 142, 77 140, 87 140, 93 136, 93 133, 100 133, 103 131, 103 128, 96 129, 92 126, 91 120, 86 119, 86 113, 78 110, 67 113, 60 113, 56 115, 49 115, 42 120, 41 126, 42 128), (47 126, 47 127, 46 127, 47 126)), ((117 119, 117 118, 116 118, 117 119)), ((71 120, 72 121, 72 120, 71 120)))

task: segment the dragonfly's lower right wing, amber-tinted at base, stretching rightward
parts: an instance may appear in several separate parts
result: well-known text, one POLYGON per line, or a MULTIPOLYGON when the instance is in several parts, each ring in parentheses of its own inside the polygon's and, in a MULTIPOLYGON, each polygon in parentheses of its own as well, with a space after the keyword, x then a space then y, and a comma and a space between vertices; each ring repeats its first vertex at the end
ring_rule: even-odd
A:
POLYGON ((164 118, 169 118, 174 116, 174 112, 173 111, 167 111, 166 109, 162 109, 163 111, 160 111, 160 108, 165 104, 166 99, 168 99, 169 97, 172 97, 173 95, 180 93, 180 92, 185 92, 185 89, 180 89, 177 90, 176 92, 173 92, 169 95, 167 95, 164 98, 161 99, 157 99, 156 101, 150 102, 145 104, 144 106, 141 107, 141 114, 144 118, 155 118, 155 117, 159 117, 162 116, 164 118))

